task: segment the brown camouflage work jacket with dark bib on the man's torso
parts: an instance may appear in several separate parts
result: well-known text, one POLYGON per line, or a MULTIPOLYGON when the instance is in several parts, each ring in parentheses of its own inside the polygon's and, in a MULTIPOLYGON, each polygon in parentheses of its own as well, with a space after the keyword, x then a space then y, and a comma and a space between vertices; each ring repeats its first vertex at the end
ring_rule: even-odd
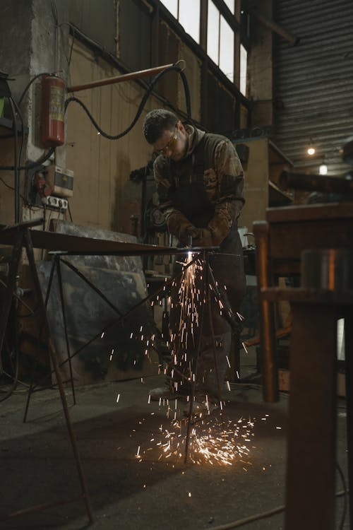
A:
POLYGON ((160 209, 170 233, 181 244, 220 245, 244 205, 244 174, 237 152, 225 136, 191 125, 186 155, 179 161, 163 155, 154 163, 160 209))

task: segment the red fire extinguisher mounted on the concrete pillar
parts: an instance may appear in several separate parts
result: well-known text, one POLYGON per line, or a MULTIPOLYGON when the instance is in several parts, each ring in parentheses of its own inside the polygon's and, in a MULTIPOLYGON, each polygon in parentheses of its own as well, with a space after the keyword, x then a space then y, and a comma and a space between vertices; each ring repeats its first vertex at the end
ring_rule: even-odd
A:
POLYGON ((65 83, 56 76, 42 77, 42 142, 46 147, 64 143, 65 83))

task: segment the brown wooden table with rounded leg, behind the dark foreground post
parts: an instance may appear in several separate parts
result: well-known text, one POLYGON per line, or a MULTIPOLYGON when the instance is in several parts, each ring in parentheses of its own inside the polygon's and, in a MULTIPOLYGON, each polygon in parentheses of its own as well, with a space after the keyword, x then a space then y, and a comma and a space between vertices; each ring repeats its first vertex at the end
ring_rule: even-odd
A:
POLYGON ((305 249, 353 248, 353 203, 268 208, 266 220, 253 224, 260 310, 263 399, 278 400, 274 303, 263 291, 278 276, 300 273, 305 249))

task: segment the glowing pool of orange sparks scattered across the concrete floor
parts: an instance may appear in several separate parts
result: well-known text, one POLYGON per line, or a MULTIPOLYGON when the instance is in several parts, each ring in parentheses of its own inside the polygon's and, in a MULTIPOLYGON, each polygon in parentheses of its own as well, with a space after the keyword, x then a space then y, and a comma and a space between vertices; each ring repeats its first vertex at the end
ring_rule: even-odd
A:
MULTIPOLYGON (((240 463, 251 466, 249 454, 253 442, 253 420, 240 418, 237 421, 222 420, 215 416, 192 425, 189 437, 189 461, 193 464, 226 465, 240 463)), ((152 449, 160 452, 158 460, 184 461, 186 443, 186 420, 174 420, 168 428, 160 425, 159 433, 152 434, 153 446, 136 457, 143 459, 152 449)))

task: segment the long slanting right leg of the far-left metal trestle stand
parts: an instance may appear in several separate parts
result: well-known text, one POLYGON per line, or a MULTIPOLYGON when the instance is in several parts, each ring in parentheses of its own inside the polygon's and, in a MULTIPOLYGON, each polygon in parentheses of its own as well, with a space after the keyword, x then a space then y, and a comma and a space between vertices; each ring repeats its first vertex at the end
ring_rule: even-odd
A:
POLYGON ((83 468, 82 468, 82 464, 81 464, 81 461, 80 461, 80 454, 78 452, 78 446, 77 446, 77 442, 76 442, 76 437, 75 437, 75 434, 73 432, 70 415, 68 413, 68 405, 67 405, 67 401, 66 401, 64 385, 63 385, 62 380, 61 380, 61 374, 60 374, 58 363, 57 363, 57 360, 56 360, 56 351, 55 351, 55 348, 54 348, 54 343, 52 341, 52 336, 50 334, 50 327, 49 327, 49 322, 48 322, 48 319, 47 319, 47 311, 45 309, 44 300, 43 300, 43 297, 42 297, 42 290, 40 288, 40 280, 38 278, 37 269, 36 269, 36 266, 35 266, 35 257, 34 257, 34 253, 33 253, 32 241, 30 239, 30 230, 25 229, 25 231, 23 232, 23 236, 24 236, 24 240, 25 240, 25 248, 26 248, 26 251, 27 251, 28 262, 30 264, 30 271, 32 273, 32 279, 33 279, 33 282, 35 284, 35 289, 37 290, 37 296, 38 296, 38 301, 39 301, 39 304, 40 304, 40 310, 42 312, 42 317, 43 317, 43 320, 44 320, 44 327, 45 327, 45 329, 47 331, 49 355, 50 355, 50 359, 52 361, 52 365, 54 367, 54 372, 55 372, 55 375, 56 375, 56 381, 57 381, 57 384, 58 384, 58 387, 59 387, 59 394, 60 394, 60 398, 61 398, 61 404, 62 404, 62 407, 63 407, 64 416, 65 416, 65 419, 66 419, 66 427, 67 427, 67 430, 68 430, 68 435, 69 435, 70 440, 71 440, 71 446, 72 446, 72 449, 73 449, 73 454, 74 454, 74 457, 75 457, 75 460, 76 460, 76 467, 77 467, 77 471, 78 471, 78 477, 79 477, 79 480, 80 480, 81 490, 82 490, 82 493, 83 493, 83 498, 84 498, 84 501, 85 501, 85 507, 86 507, 86 511, 87 511, 87 514, 88 514, 88 519, 90 520, 90 522, 93 522, 92 507, 90 505, 90 495, 88 493, 88 488, 87 488, 87 485, 85 483, 85 477, 83 475, 83 468))

